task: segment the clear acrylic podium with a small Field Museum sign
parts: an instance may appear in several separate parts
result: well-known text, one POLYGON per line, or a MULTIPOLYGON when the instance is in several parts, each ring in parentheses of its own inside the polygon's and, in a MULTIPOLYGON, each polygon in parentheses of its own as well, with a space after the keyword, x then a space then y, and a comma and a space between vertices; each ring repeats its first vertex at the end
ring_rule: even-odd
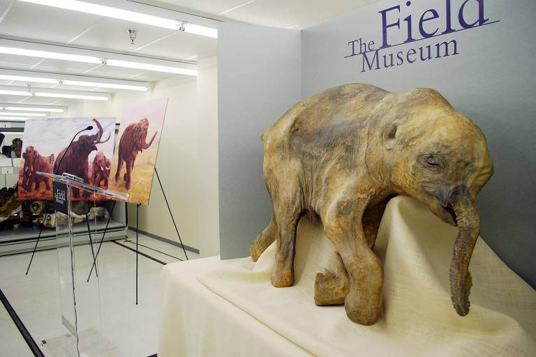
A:
MULTIPOLYGON (((68 176, 38 174, 52 178, 54 208, 56 210, 56 239, 57 242, 65 240, 69 242, 67 247, 58 245, 57 248, 61 323, 64 328, 61 341, 61 349, 64 354, 61 356, 105 356, 107 341, 101 333, 96 229, 91 231, 88 221, 87 233, 90 236, 90 249, 77 250, 75 254, 77 234, 73 231, 73 213, 85 214, 88 220, 96 221, 96 215, 91 216, 91 208, 97 207, 97 199, 99 201, 103 199, 126 200, 128 194, 103 190, 68 176), (83 197, 84 201, 81 202, 80 197, 83 197), (91 197, 91 199, 87 199, 87 197, 91 197), (87 271, 93 265, 96 270, 96 278, 88 282, 86 279, 87 271)), ((96 222, 93 226, 97 226, 96 222)))

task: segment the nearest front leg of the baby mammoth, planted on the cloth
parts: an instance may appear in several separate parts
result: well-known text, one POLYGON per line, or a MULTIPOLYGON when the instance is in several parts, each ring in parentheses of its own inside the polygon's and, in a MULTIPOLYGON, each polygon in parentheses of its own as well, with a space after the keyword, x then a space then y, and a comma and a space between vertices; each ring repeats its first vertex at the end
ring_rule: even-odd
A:
POLYGON ((348 294, 344 307, 348 318, 357 324, 371 325, 382 312, 383 269, 362 228, 362 212, 348 202, 334 205, 324 222, 326 236, 348 272, 348 294))

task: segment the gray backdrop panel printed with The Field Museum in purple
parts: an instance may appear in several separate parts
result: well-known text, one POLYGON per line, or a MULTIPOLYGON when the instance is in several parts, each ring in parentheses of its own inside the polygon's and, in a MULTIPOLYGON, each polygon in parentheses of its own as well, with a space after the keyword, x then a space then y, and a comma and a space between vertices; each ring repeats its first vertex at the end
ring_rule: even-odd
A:
MULTIPOLYGON (((461 2, 452 0, 453 14, 461 2)), ((470 8, 475 3, 469 1, 467 19, 476 18, 470 8)), ((412 14, 414 38, 422 37, 417 21, 429 8, 438 9, 441 19, 437 25, 444 31, 445 0, 412 0, 410 12, 405 10, 405 1, 379 1, 306 29, 301 38, 302 97, 351 82, 396 92, 426 86, 442 93, 482 128, 496 167, 477 200, 481 235, 503 261, 535 287, 536 1, 485 0, 486 17, 500 22, 379 52, 396 53, 429 44, 435 48, 436 43, 455 39, 459 54, 362 73, 362 56, 344 58, 351 53, 348 41, 362 37, 380 44, 382 19, 378 12, 399 4, 403 9, 401 22, 412 14)), ((453 27, 457 24, 457 17, 452 23, 453 27)), ((433 25, 429 22, 427 28, 435 28, 433 25)), ((395 32, 388 30, 391 44, 403 42, 395 32)))

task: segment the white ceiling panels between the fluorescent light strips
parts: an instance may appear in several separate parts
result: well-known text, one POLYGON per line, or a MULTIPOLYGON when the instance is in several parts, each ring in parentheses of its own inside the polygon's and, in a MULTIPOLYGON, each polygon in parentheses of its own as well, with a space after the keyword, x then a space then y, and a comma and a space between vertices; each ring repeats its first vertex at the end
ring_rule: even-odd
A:
MULTIPOLYGON (((180 10, 215 20, 245 22, 263 26, 304 29, 355 10, 375 0, 133 0, 135 2, 180 10)), ((145 24, 131 23, 50 6, 0 0, 0 38, 83 47, 91 50, 135 54, 174 61, 198 61, 216 54, 214 38, 196 36, 145 24), (138 29, 135 44, 128 29, 138 29)), ((55 59, 0 54, 0 68, 41 72, 135 79, 153 82, 169 73, 131 68, 96 66, 55 59)), ((25 86, 26 82, 0 81, 0 85, 25 86)), ((64 84, 32 84, 36 88, 77 89, 113 92, 113 89, 81 88, 64 84)), ((73 100, 0 96, 0 102, 40 105, 69 105, 73 100)))

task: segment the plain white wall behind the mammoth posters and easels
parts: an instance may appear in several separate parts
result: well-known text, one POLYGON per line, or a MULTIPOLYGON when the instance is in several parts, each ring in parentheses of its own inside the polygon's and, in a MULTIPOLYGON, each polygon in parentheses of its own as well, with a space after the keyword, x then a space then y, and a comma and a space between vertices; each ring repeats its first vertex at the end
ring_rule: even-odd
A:
MULTIPOLYGON (((202 63, 211 62, 215 63, 216 59, 202 61, 202 63)), ((213 138, 213 142, 207 140, 211 132, 217 132, 217 112, 211 110, 210 105, 203 107, 202 110, 198 108, 198 103, 210 103, 217 100, 216 91, 212 90, 216 86, 216 68, 202 63, 200 63, 197 79, 196 77, 163 79, 154 83, 147 92, 119 91, 109 102, 81 100, 76 105, 71 105, 67 112, 67 116, 115 116, 117 122, 120 123, 121 113, 128 103, 153 98, 169 98, 156 169, 182 241, 185 245, 195 249, 201 246, 210 247, 209 243, 201 243, 201 234, 208 236, 207 239, 218 240, 217 235, 214 238, 211 236, 211 234, 214 235, 214 231, 218 233, 217 214, 207 215, 211 209, 217 210, 218 207, 217 135, 216 139, 213 138), (207 68, 207 71, 201 68, 207 68), (203 114, 202 118, 200 113, 203 114), (208 133, 208 136, 203 136, 204 134, 199 130, 208 133), (203 137, 207 139, 199 139, 203 137), (200 144, 203 146, 201 147, 200 144), (206 176, 201 175, 201 172, 209 172, 211 177, 201 178, 201 176, 206 176), (216 185, 216 193, 214 193, 214 188, 210 188, 210 181, 214 178, 216 181, 213 186, 216 185)), ((128 225, 131 227, 135 227, 135 211, 135 205, 128 206, 128 225)), ((140 206, 139 227, 142 231, 179 241, 156 175, 153 179, 149 205, 140 206)), ((206 249, 209 250, 209 248, 206 249)))

